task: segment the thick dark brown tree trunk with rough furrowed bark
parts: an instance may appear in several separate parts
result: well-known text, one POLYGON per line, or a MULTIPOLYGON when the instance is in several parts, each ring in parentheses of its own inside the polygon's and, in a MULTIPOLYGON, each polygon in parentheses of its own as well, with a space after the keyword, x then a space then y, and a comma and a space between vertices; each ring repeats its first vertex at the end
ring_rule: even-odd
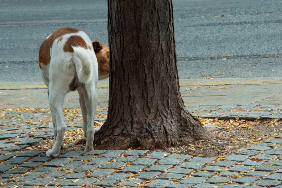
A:
POLYGON ((180 96, 172 0, 108 0, 108 35, 109 110, 94 143, 155 149, 210 138, 180 96))

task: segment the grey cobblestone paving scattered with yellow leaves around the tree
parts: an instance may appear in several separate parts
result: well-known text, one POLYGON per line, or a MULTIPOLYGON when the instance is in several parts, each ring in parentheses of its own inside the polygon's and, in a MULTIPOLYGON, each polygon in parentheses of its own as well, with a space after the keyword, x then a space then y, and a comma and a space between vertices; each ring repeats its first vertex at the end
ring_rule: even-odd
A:
MULTIPOLYGON (((227 107, 217 108, 225 109, 215 112, 219 118, 234 116, 231 112, 227 113, 227 107)), ((244 107, 245 110, 253 108, 263 111, 269 107, 244 107)), ((271 111, 274 114, 275 109, 279 108, 273 108, 271 111)), ((241 107, 234 106, 232 109, 237 109, 235 111, 242 117, 245 115, 241 107)), ((17 123, 9 118, 0 120, 1 187, 282 187, 282 134, 265 143, 253 144, 234 152, 224 159, 141 149, 95 150, 87 153, 72 151, 53 159, 46 157, 45 151, 40 149, 20 151, 46 139, 53 139, 52 125, 44 124, 51 123, 51 120, 44 120, 36 126, 26 123, 30 118, 43 117, 43 112, 49 111, 23 118, 20 112, 13 111, 13 115, 6 117, 18 117, 17 123), (5 126, 7 123, 13 126, 5 126)), ((193 112, 194 115, 198 113, 197 109, 193 112)), ((204 115, 208 114, 210 112, 206 111, 204 115)), ((261 113, 258 111, 257 114, 261 113)), ((254 116, 257 114, 255 112, 254 116)), ((78 124, 74 122, 67 128, 76 130, 80 127, 78 124)))

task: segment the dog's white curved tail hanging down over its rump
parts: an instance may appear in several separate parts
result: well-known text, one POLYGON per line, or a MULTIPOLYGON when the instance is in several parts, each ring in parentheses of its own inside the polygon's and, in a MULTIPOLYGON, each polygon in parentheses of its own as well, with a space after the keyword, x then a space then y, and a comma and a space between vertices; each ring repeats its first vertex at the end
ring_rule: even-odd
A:
POLYGON ((76 65, 76 74, 78 80, 82 83, 87 83, 92 78, 92 61, 87 50, 81 47, 72 46, 73 62, 76 65))

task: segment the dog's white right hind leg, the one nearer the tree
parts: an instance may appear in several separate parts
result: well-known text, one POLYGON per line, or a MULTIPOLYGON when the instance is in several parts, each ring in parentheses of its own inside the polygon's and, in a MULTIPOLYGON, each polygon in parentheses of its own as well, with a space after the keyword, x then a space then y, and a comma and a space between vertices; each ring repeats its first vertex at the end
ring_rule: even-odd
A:
POLYGON ((94 140, 94 116, 97 107, 97 83, 88 82, 81 86, 81 91, 83 92, 84 101, 86 105, 87 112, 87 130, 86 130, 86 147, 85 152, 92 151, 93 140, 94 140))

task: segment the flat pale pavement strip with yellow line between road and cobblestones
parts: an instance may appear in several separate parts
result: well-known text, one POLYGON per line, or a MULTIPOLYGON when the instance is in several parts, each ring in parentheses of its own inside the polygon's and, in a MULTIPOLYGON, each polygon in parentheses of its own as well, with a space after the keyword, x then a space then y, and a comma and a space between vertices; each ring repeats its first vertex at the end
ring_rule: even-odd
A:
MULTIPOLYGON (((108 81, 98 84, 98 106, 107 108, 108 81)), ((281 118, 282 77, 180 80, 185 106, 205 118, 281 118)), ((43 82, 2 83, 0 108, 49 107, 43 82)), ((79 107, 77 92, 65 97, 65 108, 79 107)))

